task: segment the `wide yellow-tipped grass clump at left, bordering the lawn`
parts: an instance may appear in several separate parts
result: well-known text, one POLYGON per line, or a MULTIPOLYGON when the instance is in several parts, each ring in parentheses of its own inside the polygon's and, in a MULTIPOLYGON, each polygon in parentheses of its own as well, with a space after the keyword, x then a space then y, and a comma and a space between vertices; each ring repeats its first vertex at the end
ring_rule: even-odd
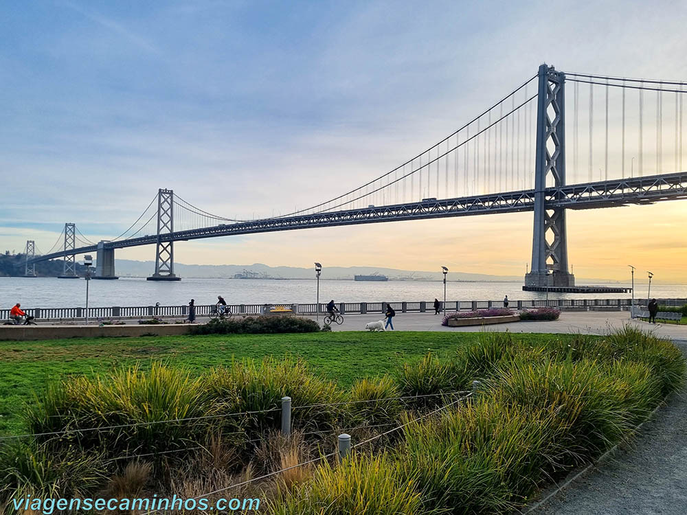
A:
POLYGON ((199 419, 210 405, 201 380, 188 371, 153 363, 108 376, 65 378, 49 385, 27 410, 32 433, 69 431, 53 446, 100 449, 108 455, 152 453, 187 446, 203 439, 222 420, 199 419), (179 420, 179 419, 194 420, 179 420), (95 430, 93 430, 95 428, 95 430))

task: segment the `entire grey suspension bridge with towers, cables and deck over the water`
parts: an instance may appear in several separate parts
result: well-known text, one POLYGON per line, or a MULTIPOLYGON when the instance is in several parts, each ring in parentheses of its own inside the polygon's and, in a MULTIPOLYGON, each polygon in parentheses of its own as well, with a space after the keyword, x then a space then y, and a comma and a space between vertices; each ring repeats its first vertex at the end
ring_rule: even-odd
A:
POLYGON ((36 262, 63 258, 62 277, 77 277, 76 255, 95 252, 95 278, 116 279, 115 249, 155 244, 155 271, 148 279, 179 280, 174 274, 174 242, 179 241, 532 211, 532 265, 525 286, 571 288, 567 209, 687 198, 685 86, 541 65, 536 75, 437 144, 328 201, 240 220, 160 189, 141 216, 111 240, 92 241, 76 224, 66 223, 46 253, 27 241, 25 274, 35 275, 36 262), (572 86, 567 100, 572 117, 566 117, 566 84, 569 90, 572 86), (570 132, 572 144, 566 145, 570 132))

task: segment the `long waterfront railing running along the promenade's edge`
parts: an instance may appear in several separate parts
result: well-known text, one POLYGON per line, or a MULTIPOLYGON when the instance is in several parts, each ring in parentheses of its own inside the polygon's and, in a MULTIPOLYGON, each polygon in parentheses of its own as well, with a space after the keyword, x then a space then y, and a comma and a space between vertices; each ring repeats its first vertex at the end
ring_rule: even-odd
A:
MULTIPOLYGON (((635 306, 646 306, 649 299, 635 299, 635 306)), ((686 299, 657 299, 660 306, 683 306, 687 304, 686 299)), ((509 303, 511 309, 528 308, 561 308, 587 310, 593 308, 615 308, 622 310, 629 308, 630 299, 527 299, 512 300, 509 303)), ((304 315, 314 315, 317 311, 316 304, 283 304, 280 306, 291 306, 293 312, 304 315)), ((390 305, 398 313, 423 313, 433 311, 434 301, 396 301, 390 305)), ((447 301, 447 311, 460 310, 479 310, 488 308, 500 308, 503 301, 447 301)), ((272 304, 231 304, 229 309, 234 314, 251 315, 269 312, 272 304)), ((387 304, 385 302, 341 302, 337 308, 343 314, 365 314, 365 313, 384 313, 387 304)), ((207 316, 214 308, 214 304, 196 305, 196 317, 207 316)), ((443 310, 443 306, 442 306, 443 310)), ((85 308, 28 308, 24 310, 32 317, 41 320, 74 320, 86 317, 85 308)), ((319 312, 326 312, 326 304, 319 305, 319 312)), ((0 319, 6 320, 10 317, 9 309, 0 309, 0 319)), ((122 318, 146 318, 146 317, 188 317, 188 306, 113 306, 110 308, 89 308, 89 319, 122 319, 122 318)))

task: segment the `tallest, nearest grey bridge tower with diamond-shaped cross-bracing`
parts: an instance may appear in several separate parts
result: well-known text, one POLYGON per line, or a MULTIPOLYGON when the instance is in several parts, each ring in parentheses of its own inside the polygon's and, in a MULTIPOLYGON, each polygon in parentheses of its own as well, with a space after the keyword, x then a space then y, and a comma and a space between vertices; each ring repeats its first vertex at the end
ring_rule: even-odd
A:
POLYGON ((574 286, 567 264, 565 209, 550 209, 545 194, 547 186, 565 185, 565 74, 544 64, 538 76, 532 268, 525 286, 574 286))

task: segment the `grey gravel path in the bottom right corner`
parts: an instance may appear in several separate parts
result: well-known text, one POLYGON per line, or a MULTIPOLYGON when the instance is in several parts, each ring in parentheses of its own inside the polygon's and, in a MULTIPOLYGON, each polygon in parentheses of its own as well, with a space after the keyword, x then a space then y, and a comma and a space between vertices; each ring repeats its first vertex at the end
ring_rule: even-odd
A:
MULTIPOLYGON (((675 341, 687 354, 687 341, 675 341)), ((673 396, 635 439, 532 515, 687 514, 687 393, 673 396)))

